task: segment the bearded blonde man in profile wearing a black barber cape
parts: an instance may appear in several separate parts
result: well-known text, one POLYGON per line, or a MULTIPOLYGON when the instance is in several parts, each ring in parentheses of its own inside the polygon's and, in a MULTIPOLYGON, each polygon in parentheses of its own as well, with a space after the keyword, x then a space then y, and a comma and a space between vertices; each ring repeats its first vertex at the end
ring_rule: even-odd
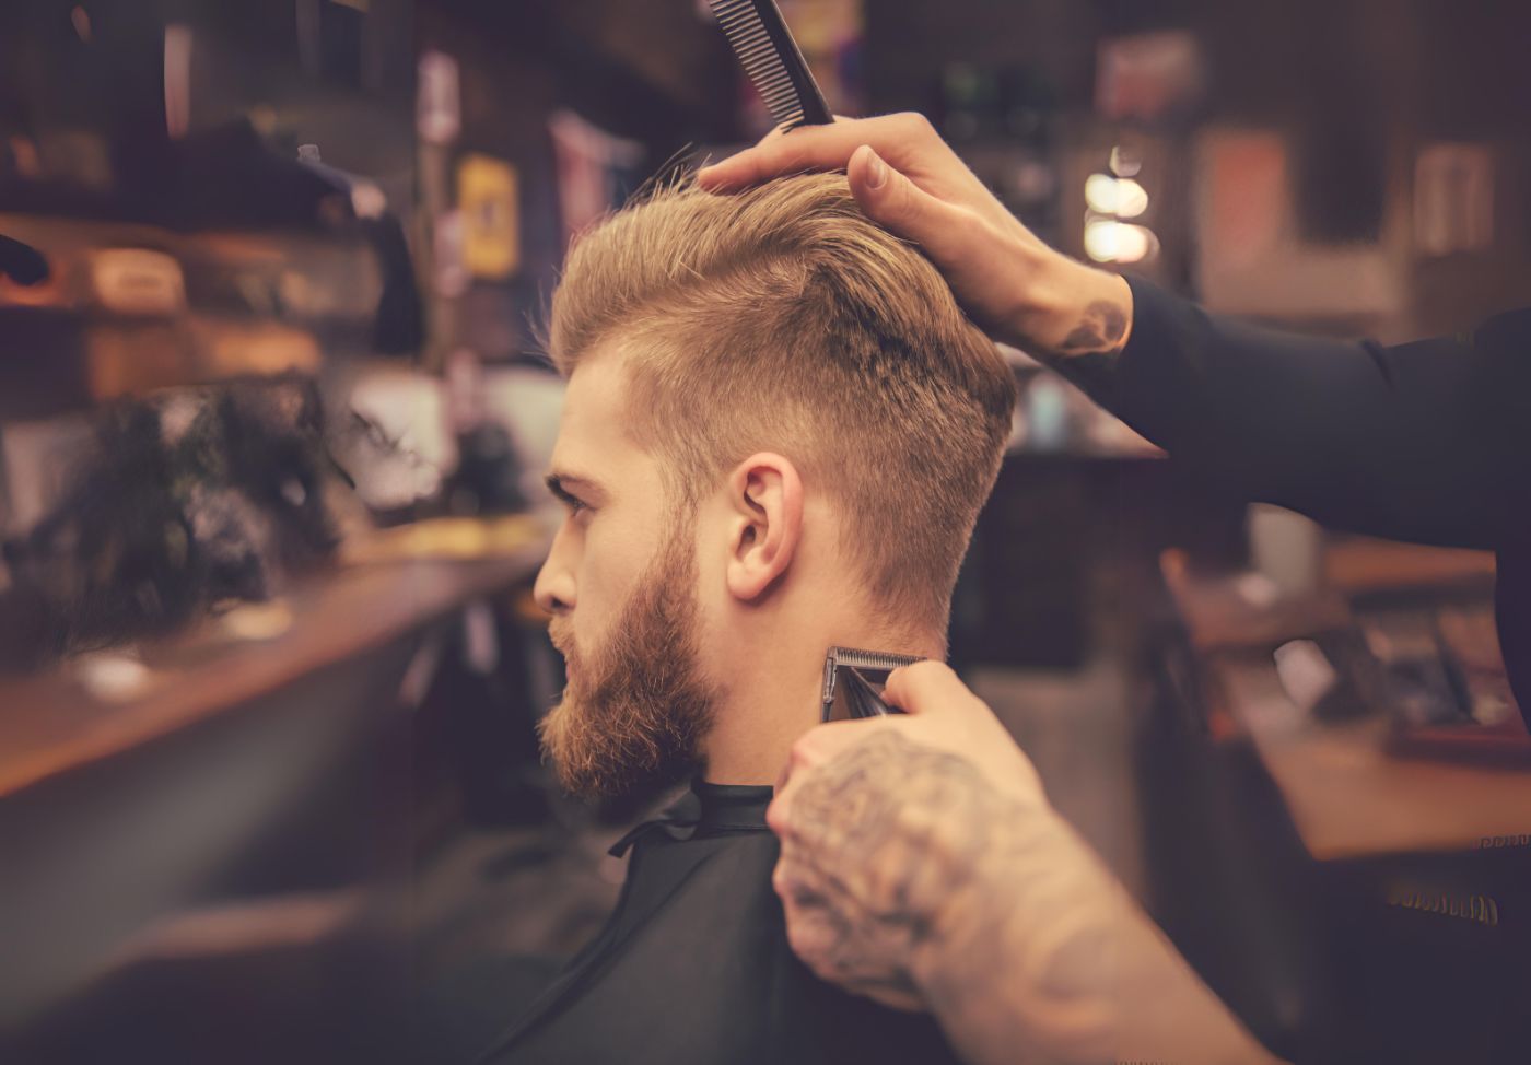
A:
POLYGON ((943 656, 1010 372, 842 176, 628 208, 571 251, 550 340, 568 517, 536 595, 570 682, 544 742, 583 794, 700 776, 490 1059, 952 1060, 793 958, 764 811, 830 646, 943 656))

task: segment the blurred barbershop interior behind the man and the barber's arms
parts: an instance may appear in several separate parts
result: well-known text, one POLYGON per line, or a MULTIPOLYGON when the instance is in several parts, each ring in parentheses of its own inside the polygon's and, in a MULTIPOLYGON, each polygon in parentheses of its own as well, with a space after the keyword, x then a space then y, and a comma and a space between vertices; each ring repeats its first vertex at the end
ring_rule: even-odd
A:
MULTIPOLYGON (((836 112, 1213 311, 1531 291, 1528 8, 781 8, 836 112)), ((465 1060, 599 927, 658 797, 537 764, 534 326, 571 234, 767 127, 700 0, 6 5, 0 1059, 465 1060)), ((1219 497, 1009 357, 952 661, 1055 805, 1277 1053, 1525 1060, 1493 555, 1219 497)))

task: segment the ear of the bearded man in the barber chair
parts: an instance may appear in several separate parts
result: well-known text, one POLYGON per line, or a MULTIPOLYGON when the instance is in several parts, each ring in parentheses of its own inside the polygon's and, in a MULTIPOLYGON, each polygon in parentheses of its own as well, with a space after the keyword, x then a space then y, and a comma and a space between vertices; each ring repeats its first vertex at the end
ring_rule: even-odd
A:
POLYGON ((729 474, 729 592, 755 600, 792 565, 802 534, 802 479, 772 451, 758 451, 729 474))

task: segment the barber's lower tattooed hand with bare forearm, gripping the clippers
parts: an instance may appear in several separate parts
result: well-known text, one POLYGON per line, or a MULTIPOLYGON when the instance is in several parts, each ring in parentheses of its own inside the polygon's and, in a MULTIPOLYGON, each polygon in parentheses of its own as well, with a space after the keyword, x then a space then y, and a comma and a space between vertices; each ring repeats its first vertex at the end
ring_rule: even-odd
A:
POLYGON ((808 731, 767 811, 787 935, 814 973, 929 1010, 974 1065, 1274 1060, 951 669, 896 670, 883 696, 908 713, 808 731))

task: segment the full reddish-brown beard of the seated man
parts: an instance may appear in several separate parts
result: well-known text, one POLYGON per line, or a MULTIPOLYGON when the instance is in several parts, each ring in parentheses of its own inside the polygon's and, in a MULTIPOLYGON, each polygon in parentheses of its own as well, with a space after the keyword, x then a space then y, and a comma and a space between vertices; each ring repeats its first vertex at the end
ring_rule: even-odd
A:
POLYGON ((570 682, 539 731, 565 788, 591 799, 629 796, 700 767, 715 693, 698 663, 697 627, 697 562, 681 529, 640 578, 603 647, 586 658, 553 623, 570 682))

